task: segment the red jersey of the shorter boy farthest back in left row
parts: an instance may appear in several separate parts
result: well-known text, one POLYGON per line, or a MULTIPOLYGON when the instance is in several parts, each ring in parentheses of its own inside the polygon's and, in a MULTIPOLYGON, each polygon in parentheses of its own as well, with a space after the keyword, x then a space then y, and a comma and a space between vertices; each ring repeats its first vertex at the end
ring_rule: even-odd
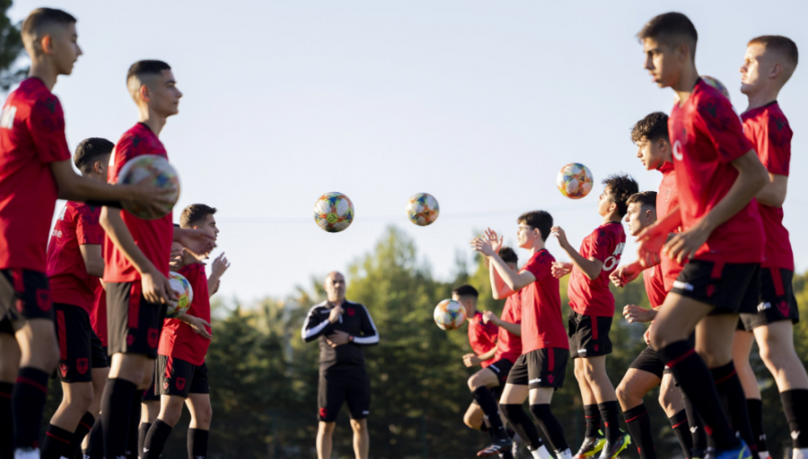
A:
MULTIPOLYGON (((194 300, 191 301, 187 314, 210 322, 210 295, 207 291, 205 265, 189 264, 183 266, 178 273, 188 279, 194 290, 194 300)), ((209 328, 207 332, 210 333, 209 328)), ((190 325, 177 319, 165 319, 157 353, 174 359, 183 359, 194 365, 202 365, 209 345, 210 340, 194 332, 190 325)))

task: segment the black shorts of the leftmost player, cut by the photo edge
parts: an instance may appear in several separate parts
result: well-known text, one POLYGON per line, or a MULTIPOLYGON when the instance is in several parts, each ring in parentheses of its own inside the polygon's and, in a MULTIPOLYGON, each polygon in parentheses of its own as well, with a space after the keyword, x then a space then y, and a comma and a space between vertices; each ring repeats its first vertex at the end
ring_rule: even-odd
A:
POLYGON ((20 320, 54 319, 48 275, 9 268, 0 276, 0 332, 13 334, 13 322, 20 320))

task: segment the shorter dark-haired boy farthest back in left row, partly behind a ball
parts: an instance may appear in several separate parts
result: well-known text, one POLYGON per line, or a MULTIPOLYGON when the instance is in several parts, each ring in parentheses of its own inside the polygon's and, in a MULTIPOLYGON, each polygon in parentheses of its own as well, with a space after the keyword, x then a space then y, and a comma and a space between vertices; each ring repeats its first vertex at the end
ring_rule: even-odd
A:
MULTIPOLYGON (((212 238, 216 228, 213 207, 192 204, 180 215, 180 227, 203 229, 212 238)), ((194 299, 183 316, 166 319, 157 356, 157 390, 161 394, 160 414, 145 437, 142 459, 160 457, 171 429, 180 420, 182 405, 191 414, 188 429, 189 457, 207 457, 207 437, 213 410, 207 383, 205 354, 210 345, 210 295, 205 265, 193 257, 182 257, 178 273, 185 276, 194 299)), ((217 281, 217 280, 216 280, 217 281)))

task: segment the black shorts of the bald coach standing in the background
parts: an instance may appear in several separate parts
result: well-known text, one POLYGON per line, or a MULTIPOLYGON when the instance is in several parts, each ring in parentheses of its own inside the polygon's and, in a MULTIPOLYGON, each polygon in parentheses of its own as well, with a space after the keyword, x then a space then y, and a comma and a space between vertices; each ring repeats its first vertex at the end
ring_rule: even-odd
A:
POLYGON ((363 370, 356 373, 321 374, 318 387, 318 418, 322 422, 337 420, 339 409, 347 402, 352 420, 370 414, 370 377, 363 370))

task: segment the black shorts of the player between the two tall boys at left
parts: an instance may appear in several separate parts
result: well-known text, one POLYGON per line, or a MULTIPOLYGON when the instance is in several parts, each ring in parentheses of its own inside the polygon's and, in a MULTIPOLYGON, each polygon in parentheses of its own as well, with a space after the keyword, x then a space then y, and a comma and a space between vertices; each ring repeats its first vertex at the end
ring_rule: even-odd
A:
POLYGON ((83 307, 54 303, 59 343, 59 380, 63 383, 92 382, 91 368, 109 368, 101 339, 90 326, 83 307))

